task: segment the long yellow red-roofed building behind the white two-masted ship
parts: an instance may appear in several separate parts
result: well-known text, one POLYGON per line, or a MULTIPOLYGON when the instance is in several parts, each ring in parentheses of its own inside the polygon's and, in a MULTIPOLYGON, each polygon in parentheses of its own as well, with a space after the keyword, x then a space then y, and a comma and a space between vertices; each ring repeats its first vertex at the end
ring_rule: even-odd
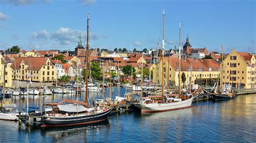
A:
MULTIPOLYGON (((164 85, 179 85, 179 60, 164 58, 164 85), (167 82, 169 81, 169 82, 167 82)), ((161 84, 162 60, 153 69, 153 82, 161 84)), ((213 85, 219 81, 220 65, 213 59, 181 59, 181 74, 184 73, 185 86, 189 84, 213 85)), ((183 83, 181 82, 181 85, 183 83)))

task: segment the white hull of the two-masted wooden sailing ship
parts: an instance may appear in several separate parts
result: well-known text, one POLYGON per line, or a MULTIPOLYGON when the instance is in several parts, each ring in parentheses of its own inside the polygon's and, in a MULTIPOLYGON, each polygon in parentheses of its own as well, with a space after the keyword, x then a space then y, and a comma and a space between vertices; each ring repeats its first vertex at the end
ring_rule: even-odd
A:
POLYGON ((141 112, 152 113, 152 112, 165 112, 172 111, 178 109, 186 109, 190 108, 193 101, 193 97, 187 99, 185 101, 173 102, 173 103, 151 103, 151 104, 134 104, 137 108, 141 110, 141 112))

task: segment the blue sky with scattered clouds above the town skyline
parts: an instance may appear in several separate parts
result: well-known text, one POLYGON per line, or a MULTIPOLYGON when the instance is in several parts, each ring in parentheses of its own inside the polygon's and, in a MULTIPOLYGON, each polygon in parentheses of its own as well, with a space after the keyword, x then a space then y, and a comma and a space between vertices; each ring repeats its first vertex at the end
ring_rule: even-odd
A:
MULTIPOLYGON (((91 48, 156 48, 165 9, 166 48, 186 35, 194 48, 255 52, 255 1, 0 0, 0 48, 74 50, 85 42, 90 12, 91 48)), ((183 45, 181 45, 182 47, 183 45)))

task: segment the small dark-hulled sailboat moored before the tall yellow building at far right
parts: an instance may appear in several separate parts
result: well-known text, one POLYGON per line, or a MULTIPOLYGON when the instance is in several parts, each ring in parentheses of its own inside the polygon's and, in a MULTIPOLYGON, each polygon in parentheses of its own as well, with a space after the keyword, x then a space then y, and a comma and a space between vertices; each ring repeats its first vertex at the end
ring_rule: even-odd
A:
MULTIPOLYGON (((223 70, 224 70, 224 66, 223 66, 223 60, 224 60, 224 45, 222 45, 222 56, 221 56, 221 74, 220 77, 223 77, 223 70)), ((227 84, 223 84, 220 83, 221 87, 220 87, 220 91, 216 91, 213 94, 210 94, 210 96, 212 97, 213 100, 218 101, 218 100, 227 100, 227 99, 231 99, 234 98, 237 93, 236 92, 231 92, 231 85, 227 85, 227 84)), ((216 87, 218 88, 218 86, 216 87)))

